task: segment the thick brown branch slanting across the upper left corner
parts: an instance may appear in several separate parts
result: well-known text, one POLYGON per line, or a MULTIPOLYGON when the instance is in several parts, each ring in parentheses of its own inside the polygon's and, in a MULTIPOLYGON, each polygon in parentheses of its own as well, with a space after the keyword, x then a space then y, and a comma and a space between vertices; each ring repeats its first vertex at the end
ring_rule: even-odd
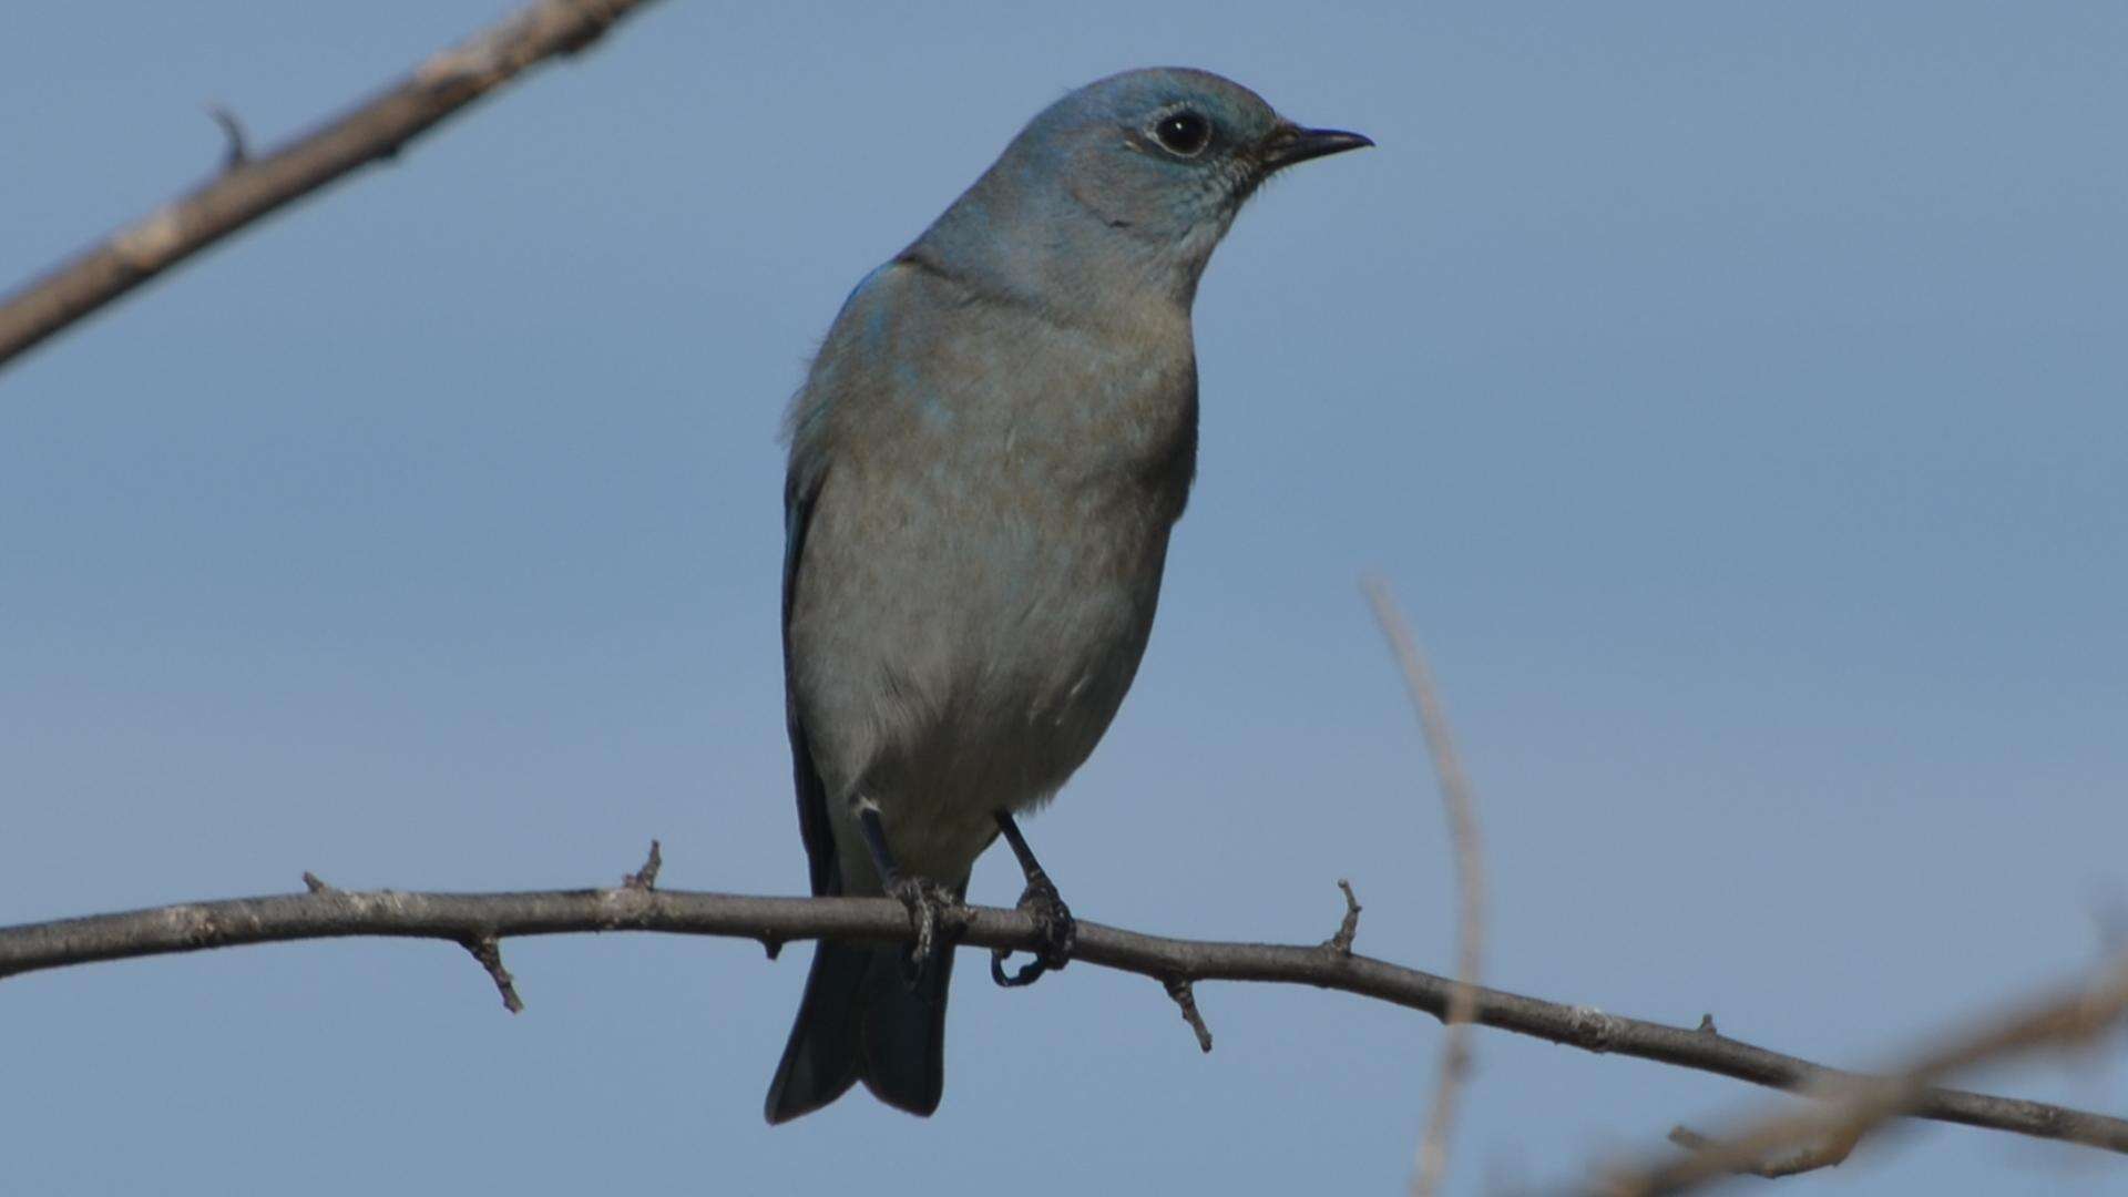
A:
POLYGON ((647 2, 538 0, 264 158, 249 155, 236 119, 217 109, 230 138, 221 175, 0 298, 0 366, 262 215, 392 158, 526 68, 592 45, 647 2))

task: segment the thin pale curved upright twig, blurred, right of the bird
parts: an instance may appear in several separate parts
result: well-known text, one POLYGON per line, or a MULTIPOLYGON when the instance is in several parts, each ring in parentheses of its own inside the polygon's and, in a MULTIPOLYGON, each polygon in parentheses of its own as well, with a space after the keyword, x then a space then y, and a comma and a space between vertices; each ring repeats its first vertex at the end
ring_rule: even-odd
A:
POLYGON ((1456 852, 1458 922, 1456 922, 1456 988, 1449 995, 1447 1035, 1441 1046, 1441 1078, 1434 1084, 1432 1112, 1426 1116, 1426 1133, 1419 1137, 1419 1159, 1411 1176, 1411 1193, 1428 1197, 1441 1191, 1447 1176, 1449 1139, 1456 1131, 1456 1108, 1462 1097, 1464 1078, 1470 1073, 1468 1024, 1477 1016, 1477 982, 1485 956, 1485 860, 1477 835, 1477 801, 1470 797, 1470 780, 1462 771, 1456 754, 1456 737, 1449 733, 1447 711, 1441 692, 1434 688, 1432 671, 1419 654, 1419 643, 1396 609, 1390 584, 1368 577, 1360 584, 1375 622, 1387 637, 1396 665, 1411 692, 1411 705, 1419 714, 1419 728, 1426 733, 1426 750, 1434 760, 1434 775, 1441 780, 1441 805, 1449 820, 1449 843, 1456 852))

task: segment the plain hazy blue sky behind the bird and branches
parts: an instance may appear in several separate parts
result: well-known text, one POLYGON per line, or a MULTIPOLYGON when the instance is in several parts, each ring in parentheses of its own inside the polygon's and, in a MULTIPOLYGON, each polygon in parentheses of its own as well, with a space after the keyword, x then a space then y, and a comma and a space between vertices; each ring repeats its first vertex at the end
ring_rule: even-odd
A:
MULTIPOLYGON (((30 4, 0 285, 502 11, 30 4)), ((1387 577, 1477 784, 1487 980, 1841 1065, 2128 924, 2128 6, 668 0, 0 373, 0 922, 300 888, 800 892, 785 398, 1068 87, 1381 147, 1204 279, 1202 473, 1083 916, 1447 969, 1387 577), (892 13, 887 9, 894 9, 892 13)), ((1007 854, 975 897, 1011 903, 1007 854)), ((336 941, 0 982, 9 1193, 1394 1193, 1441 1029, 962 965, 945 1105, 768 1129, 807 948, 336 941)), ((2128 1112, 2128 1050, 1971 1084, 2128 1112)), ((1775 1099, 1477 1037, 1456 1193, 1775 1099)), ((1758 1184, 1758 1182, 1753 1182, 1758 1184)), ((1781 1193, 2128 1193, 1919 1127, 1781 1193)))

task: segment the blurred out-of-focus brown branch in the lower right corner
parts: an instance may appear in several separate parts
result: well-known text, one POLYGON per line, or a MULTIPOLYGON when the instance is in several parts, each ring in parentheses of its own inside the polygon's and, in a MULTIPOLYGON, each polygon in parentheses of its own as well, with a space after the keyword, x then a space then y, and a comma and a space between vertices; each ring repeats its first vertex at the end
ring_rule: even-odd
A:
POLYGON ((1596 1184, 1596 1193, 1658 1197, 1685 1193, 1724 1176, 1794 1176, 1839 1165, 1862 1135, 1917 1110, 1930 1093, 1936 1093, 1930 1086, 1943 1076, 2036 1048, 2085 1042, 2122 1016, 2128 1016, 2128 956, 2117 958, 2092 984, 2024 1003, 1979 1029, 1947 1037, 1898 1073, 1811 1086, 1807 1093, 1822 1101, 1807 1110, 1783 1112, 1719 1139, 1677 1127, 1670 1131, 1670 1142, 1692 1154, 1634 1174, 1609 1176, 1596 1184))

